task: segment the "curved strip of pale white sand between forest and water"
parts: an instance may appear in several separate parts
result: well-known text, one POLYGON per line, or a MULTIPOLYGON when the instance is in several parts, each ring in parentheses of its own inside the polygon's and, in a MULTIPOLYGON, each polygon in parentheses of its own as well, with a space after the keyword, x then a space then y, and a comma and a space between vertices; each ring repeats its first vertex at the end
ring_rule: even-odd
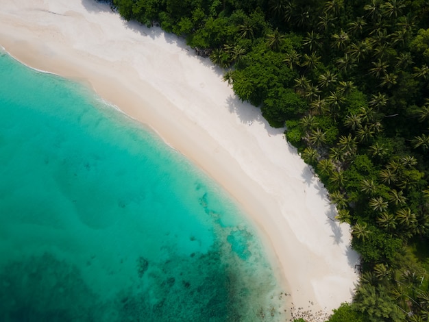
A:
POLYGON ((260 228, 295 309, 329 314, 352 299, 358 256, 326 190, 284 129, 236 99, 222 71, 184 41, 92 0, 2 0, 0 45, 90 84, 222 184, 260 228))

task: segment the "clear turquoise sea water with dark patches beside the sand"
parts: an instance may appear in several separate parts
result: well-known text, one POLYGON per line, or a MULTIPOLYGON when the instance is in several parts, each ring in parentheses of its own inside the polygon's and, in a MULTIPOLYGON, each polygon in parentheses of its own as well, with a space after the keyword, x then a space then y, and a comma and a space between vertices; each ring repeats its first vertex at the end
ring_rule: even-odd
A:
POLYGON ((280 319, 260 240, 217 184, 5 53, 0 164, 0 321, 280 319))

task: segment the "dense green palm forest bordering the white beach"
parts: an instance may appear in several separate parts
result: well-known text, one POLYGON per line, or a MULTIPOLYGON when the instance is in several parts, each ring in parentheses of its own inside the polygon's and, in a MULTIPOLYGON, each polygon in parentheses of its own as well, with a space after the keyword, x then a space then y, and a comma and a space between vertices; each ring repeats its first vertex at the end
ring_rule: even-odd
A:
POLYGON ((113 0, 225 69, 286 126, 352 227, 362 268, 338 321, 429 321, 429 2, 113 0))

